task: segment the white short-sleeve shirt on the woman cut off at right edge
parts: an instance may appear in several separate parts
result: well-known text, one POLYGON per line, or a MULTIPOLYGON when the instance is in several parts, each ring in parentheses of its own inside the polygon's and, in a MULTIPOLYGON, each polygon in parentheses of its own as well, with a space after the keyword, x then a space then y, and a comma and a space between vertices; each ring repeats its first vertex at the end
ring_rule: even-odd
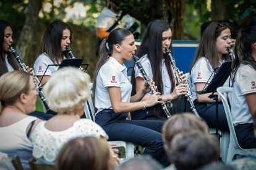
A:
POLYGON ((241 64, 237 70, 233 87, 231 115, 234 126, 254 123, 245 94, 256 92, 256 71, 250 65, 241 64))

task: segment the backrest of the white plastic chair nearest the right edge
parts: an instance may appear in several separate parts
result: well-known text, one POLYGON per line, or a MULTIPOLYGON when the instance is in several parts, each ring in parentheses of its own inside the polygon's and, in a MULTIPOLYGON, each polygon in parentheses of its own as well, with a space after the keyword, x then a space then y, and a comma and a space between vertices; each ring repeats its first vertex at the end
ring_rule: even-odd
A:
POLYGON ((233 119, 232 119, 231 111, 230 111, 227 96, 226 96, 226 94, 228 93, 229 101, 231 102, 233 87, 218 87, 217 92, 221 96, 221 101, 223 103, 223 107, 226 113, 226 117, 228 120, 228 127, 230 131, 230 137, 233 139, 234 146, 236 148, 241 148, 237 142, 236 132, 234 131, 233 119))

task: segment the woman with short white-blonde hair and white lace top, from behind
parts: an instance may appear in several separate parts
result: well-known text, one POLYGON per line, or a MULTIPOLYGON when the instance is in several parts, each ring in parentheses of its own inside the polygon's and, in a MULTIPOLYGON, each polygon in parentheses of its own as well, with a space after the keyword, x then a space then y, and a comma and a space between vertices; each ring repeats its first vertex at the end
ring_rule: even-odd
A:
POLYGON ((87 73, 66 67, 56 71, 45 84, 46 100, 58 115, 39 123, 32 134, 33 156, 39 163, 54 164, 62 146, 76 137, 108 139, 98 124, 80 119, 90 95, 89 80, 87 73))

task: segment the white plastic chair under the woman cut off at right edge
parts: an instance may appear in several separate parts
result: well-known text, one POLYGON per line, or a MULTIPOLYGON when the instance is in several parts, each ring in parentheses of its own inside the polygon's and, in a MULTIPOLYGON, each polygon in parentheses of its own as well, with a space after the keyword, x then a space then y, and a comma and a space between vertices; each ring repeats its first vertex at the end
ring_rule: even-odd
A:
POLYGON ((228 93, 229 101, 232 103, 232 92, 233 88, 232 87, 218 87, 217 92, 221 96, 221 101, 224 106, 224 110, 226 113, 226 117, 228 120, 228 126, 229 126, 229 131, 230 131, 230 142, 229 142, 229 147, 228 147, 228 156, 226 163, 229 164, 231 161, 233 161, 234 156, 236 155, 247 155, 247 152, 250 150, 255 150, 255 149, 243 149, 240 147, 240 145, 237 142, 236 138, 236 132, 234 130, 234 125, 233 125, 233 119, 231 116, 231 111, 228 105, 228 100, 226 99, 226 93, 228 93))

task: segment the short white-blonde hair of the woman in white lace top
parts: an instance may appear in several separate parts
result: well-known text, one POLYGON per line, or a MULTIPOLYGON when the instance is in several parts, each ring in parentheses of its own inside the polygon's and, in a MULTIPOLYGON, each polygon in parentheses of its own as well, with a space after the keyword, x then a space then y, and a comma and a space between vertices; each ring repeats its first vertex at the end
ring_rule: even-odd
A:
POLYGON ((90 76, 77 68, 56 71, 43 88, 51 110, 73 112, 84 107, 90 95, 89 81, 90 76))

